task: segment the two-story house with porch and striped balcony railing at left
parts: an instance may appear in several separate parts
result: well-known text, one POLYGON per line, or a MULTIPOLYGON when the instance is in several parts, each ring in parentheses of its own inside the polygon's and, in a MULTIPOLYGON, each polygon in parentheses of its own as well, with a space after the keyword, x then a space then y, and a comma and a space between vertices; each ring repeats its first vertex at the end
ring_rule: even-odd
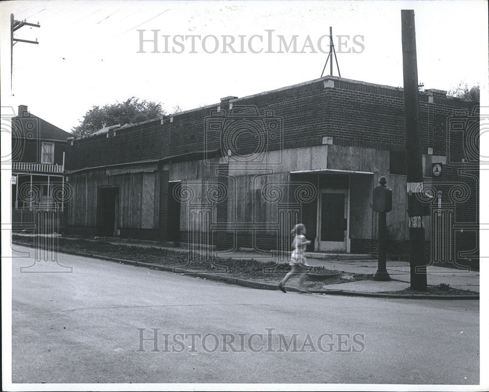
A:
MULTIPOLYGON (((64 179, 66 131, 20 105, 12 117, 12 227, 34 231, 62 225, 69 193, 64 179), (42 218, 42 219, 41 219, 42 218), (41 228, 40 226, 43 226, 41 228)), ((52 230, 51 230, 52 229, 52 230)))

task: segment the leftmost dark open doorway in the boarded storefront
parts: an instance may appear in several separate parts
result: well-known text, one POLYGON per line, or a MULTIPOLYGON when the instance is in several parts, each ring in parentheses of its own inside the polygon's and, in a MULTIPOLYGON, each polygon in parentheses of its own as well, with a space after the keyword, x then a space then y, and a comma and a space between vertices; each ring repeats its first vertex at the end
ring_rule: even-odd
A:
POLYGON ((119 187, 98 188, 97 202, 99 235, 119 235, 119 187))

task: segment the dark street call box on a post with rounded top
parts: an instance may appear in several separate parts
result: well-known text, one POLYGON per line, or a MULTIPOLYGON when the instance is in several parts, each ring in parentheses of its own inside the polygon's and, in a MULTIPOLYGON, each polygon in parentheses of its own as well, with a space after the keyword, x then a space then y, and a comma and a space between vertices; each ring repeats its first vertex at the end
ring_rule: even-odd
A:
POLYGON ((392 189, 385 186, 385 177, 380 177, 380 184, 374 188, 372 209, 378 212, 378 267, 374 280, 391 280, 386 268, 386 248, 387 248, 387 212, 392 210, 392 189))

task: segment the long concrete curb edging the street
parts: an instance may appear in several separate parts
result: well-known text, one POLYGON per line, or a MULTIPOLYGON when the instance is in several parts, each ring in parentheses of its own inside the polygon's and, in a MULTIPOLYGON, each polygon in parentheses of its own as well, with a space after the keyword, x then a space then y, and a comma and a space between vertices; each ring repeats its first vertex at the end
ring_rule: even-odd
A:
MULTIPOLYGON (((20 242, 20 241, 12 241, 12 243, 16 244, 16 245, 29 246, 31 248, 33 247, 32 244, 20 242)), ((150 269, 158 270, 158 271, 171 272, 174 274, 184 274, 186 276, 193 276, 193 277, 200 277, 200 278, 209 279, 209 280, 222 281, 225 283, 236 284, 238 286, 250 287, 250 288, 254 288, 254 289, 279 290, 278 283, 272 284, 272 283, 265 283, 265 282, 257 282, 254 280, 246 280, 246 279, 240 279, 237 277, 228 277, 228 276, 223 276, 223 275, 210 274, 207 272, 185 270, 185 269, 182 269, 180 267, 169 267, 169 266, 165 266, 165 265, 145 263, 143 261, 135 261, 135 260, 127 260, 127 259, 122 259, 122 258, 110 257, 110 256, 103 256, 100 254, 90 254, 90 253, 77 252, 77 251, 67 251, 67 250, 62 250, 59 252, 64 253, 64 254, 74 254, 74 255, 83 256, 83 257, 98 258, 101 260, 115 261, 117 263, 129 264, 129 265, 134 265, 137 267, 145 267, 145 268, 150 268, 150 269)), ((392 280, 395 280, 395 279, 392 279, 392 280)), ((287 291, 290 291, 290 292, 300 292, 300 290, 298 290, 295 287, 285 286, 285 288, 287 291)), ((366 292, 359 292, 359 291, 334 290, 334 289, 331 289, 331 290, 310 290, 310 291, 307 291, 307 293, 308 294, 342 295, 342 296, 349 296, 349 297, 401 298, 401 299, 405 299, 405 300, 479 300, 480 299, 480 296, 429 296, 429 295, 423 295, 423 294, 416 295, 416 294, 366 293, 366 292)))

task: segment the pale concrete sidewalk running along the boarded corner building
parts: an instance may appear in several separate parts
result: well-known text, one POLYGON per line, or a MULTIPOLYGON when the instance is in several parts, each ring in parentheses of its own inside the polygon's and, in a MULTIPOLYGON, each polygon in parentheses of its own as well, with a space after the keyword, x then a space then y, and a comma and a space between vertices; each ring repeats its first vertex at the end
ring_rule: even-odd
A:
MULTIPOLYGON (((21 236, 32 237, 32 234, 18 234, 21 236)), ((84 239, 93 242, 103 241, 106 243, 136 246, 143 248, 159 248, 167 249, 176 252, 187 252, 186 248, 174 247, 173 244, 166 243, 161 245, 155 241, 143 240, 124 240, 120 238, 80 238, 75 236, 66 236, 66 239, 84 239)), ((201 251, 203 252, 203 251, 201 251)), ((207 252, 222 258, 233 259, 255 259, 261 262, 279 261, 288 263, 288 255, 260 254, 253 251, 235 251, 235 252, 220 252, 208 250, 207 252)), ((371 257, 365 254, 328 254, 328 253, 308 253, 308 264, 311 266, 322 266, 328 270, 337 270, 344 272, 343 276, 348 274, 368 274, 374 275, 377 272, 377 260, 368 258, 371 257), (357 257, 356 257, 357 256, 357 257)), ((410 286, 410 266, 408 261, 389 261, 387 260, 387 272, 391 279, 390 281, 375 281, 375 280, 359 280, 347 283, 326 284, 328 290, 348 291, 358 293, 382 293, 406 289, 410 286)), ((450 285, 455 289, 471 290, 479 292, 479 272, 464 271, 454 268, 445 268, 437 266, 427 267, 427 281, 430 286, 437 286, 440 283, 450 285)))

